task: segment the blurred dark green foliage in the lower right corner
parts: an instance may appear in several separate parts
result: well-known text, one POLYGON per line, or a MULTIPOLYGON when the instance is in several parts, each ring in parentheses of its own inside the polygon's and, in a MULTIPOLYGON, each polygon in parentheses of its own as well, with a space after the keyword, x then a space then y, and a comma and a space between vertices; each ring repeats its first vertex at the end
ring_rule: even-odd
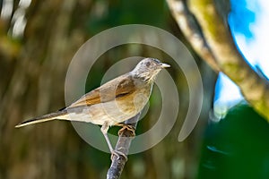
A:
POLYGON ((268 178, 269 125, 253 108, 230 109, 205 132, 198 178, 268 178))

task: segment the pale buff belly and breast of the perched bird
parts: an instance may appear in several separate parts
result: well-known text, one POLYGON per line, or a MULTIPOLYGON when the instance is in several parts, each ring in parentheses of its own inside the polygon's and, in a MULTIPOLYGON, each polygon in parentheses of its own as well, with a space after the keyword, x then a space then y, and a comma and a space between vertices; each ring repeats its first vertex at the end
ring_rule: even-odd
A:
POLYGON ((137 115, 147 101, 146 95, 133 93, 127 97, 117 98, 117 100, 79 108, 78 112, 70 110, 66 119, 99 125, 107 122, 109 125, 115 125, 137 115))

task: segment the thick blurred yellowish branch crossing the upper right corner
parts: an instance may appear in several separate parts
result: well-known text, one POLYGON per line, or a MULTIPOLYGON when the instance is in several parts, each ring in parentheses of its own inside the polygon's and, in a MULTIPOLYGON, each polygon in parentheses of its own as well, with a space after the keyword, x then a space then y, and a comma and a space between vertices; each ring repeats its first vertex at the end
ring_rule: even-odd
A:
POLYGON ((178 21, 178 26, 183 31, 189 31, 185 34, 195 51, 213 69, 216 70, 217 65, 221 72, 234 81, 247 102, 269 122, 269 83, 261 78, 239 53, 225 21, 226 18, 223 18, 221 14, 223 12, 218 12, 214 1, 190 0, 190 4, 187 5, 184 0, 168 0, 168 3, 178 21), (196 21, 192 20, 191 14, 195 16, 196 21), (192 38, 195 35, 202 41, 195 42, 192 38), (204 55, 203 49, 206 49, 209 55, 204 55))

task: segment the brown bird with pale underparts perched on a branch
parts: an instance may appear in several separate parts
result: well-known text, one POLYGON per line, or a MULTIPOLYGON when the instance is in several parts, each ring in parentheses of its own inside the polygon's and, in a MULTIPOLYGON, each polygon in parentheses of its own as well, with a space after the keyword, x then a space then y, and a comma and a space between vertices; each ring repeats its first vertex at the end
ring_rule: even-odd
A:
POLYGON ((53 120, 98 124, 101 125, 100 131, 108 143, 111 154, 125 156, 122 153, 118 154, 113 149, 108 139, 108 129, 110 126, 116 125, 134 131, 123 123, 143 110, 151 96, 152 86, 157 74, 167 67, 170 67, 170 65, 161 63, 156 58, 143 58, 131 72, 126 72, 102 84, 99 88, 91 90, 74 101, 69 107, 26 120, 15 127, 19 128, 53 120))

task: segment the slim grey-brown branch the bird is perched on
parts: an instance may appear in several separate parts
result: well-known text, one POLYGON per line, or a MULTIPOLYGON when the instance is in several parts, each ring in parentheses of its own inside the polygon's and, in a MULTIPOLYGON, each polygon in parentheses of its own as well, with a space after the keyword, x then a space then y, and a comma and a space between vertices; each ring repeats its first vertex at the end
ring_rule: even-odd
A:
MULTIPOLYGON (((127 120, 126 124, 131 124, 135 129, 140 115, 141 113, 127 120)), ((132 135, 133 133, 127 129, 121 132, 120 136, 118 137, 115 150, 122 152, 123 154, 127 156, 130 145, 131 145, 131 141, 134 139, 132 135)), ((119 158, 117 158, 117 156, 112 156, 111 159, 112 159, 112 162, 111 162, 110 168, 108 169, 107 179, 117 179, 119 178, 119 176, 121 175, 123 171, 127 158, 119 155, 119 158)))

